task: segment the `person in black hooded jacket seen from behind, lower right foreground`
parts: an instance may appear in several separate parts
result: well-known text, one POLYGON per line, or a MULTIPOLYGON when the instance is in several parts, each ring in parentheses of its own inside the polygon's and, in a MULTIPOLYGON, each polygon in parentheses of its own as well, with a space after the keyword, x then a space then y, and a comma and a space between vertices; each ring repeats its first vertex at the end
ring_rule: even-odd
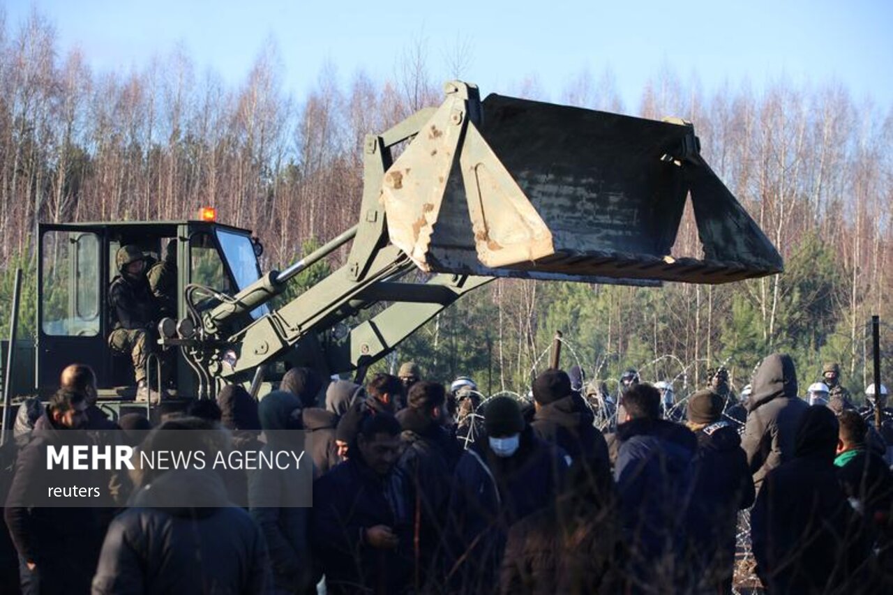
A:
POLYGON ((793 457, 772 469, 751 511, 756 574, 770 593, 861 592, 867 543, 834 467, 838 422, 827 406, 800 416, 793 457))

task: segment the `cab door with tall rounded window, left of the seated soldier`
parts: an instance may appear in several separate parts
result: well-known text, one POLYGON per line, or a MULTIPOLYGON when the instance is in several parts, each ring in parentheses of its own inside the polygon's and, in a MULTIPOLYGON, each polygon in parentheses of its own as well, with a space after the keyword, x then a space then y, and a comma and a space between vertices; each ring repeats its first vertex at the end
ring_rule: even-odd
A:
POLYGON ((38 388, 51 392, 66 365, 87 364, 100 386, 108 377, 103 280, 104 230, 40 226, 38 388))

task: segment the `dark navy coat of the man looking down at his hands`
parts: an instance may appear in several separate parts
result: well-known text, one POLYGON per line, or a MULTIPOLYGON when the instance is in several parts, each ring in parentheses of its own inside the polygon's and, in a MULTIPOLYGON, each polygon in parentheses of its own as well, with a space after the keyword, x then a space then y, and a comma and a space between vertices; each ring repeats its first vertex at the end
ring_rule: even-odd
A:
POLYGON ((380 477, 350 457, 313 483, 311 542, 329 593, 397 595, 409 586, 412 521, 407 482, 399 469, 380 477), (383 524, 397 549, 372 548, 363 530, 383 524))

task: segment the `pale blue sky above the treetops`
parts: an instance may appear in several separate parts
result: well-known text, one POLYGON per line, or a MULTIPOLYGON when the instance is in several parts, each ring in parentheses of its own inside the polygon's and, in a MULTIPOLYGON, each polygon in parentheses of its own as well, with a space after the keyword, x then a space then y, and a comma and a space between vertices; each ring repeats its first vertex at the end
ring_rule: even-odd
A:
POLYGON ((274 2, 272 0, 0 0, 7 27, 31 5, 54 22, 65 49, 80 46, 98 70, 142 67, 178 44, 201 73, 245 80, 272 38, 287 90, 304 96, 326 61, 342 80, 362 68, 393 75, 421 40, 430 74, 450 76, 447 55, 467 48, 465 80, 484 93, 509 92, 535 76, 547 98, 569 80, 609 67, 627 111, 649 77, 669 65, 697 73, 705 91, 728 80, 839 82, 856 100, 893 105, 893 1, 274 2))

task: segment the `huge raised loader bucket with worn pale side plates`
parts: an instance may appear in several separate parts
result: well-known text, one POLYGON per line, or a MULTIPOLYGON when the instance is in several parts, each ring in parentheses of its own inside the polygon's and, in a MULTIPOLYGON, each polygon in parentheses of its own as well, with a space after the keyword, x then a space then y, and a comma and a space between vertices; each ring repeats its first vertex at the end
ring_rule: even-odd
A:
POLYGON ((452 85, 382 187, 390 239, 422 269, 644 284, 782 270, 690 125, 452 85), (671 254, 689 194, 703 260, 671 254))

